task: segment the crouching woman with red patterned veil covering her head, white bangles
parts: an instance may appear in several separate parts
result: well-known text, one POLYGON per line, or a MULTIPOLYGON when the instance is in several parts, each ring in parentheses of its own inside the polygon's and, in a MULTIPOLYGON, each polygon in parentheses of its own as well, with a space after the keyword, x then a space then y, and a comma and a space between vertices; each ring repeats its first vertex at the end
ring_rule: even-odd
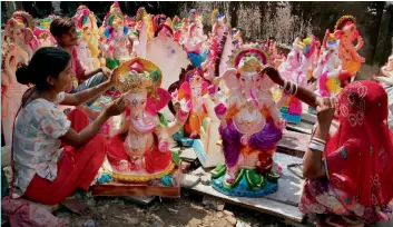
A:
POLYGON ((393 218, 393 137, 386 120, 387 95, 376 82, 354 81, 334 102, 327 98, 317 107, 298 208, 330 215, 320 218, 321 226, 389 220, 393 218), (330 136, 335 106, 340 127, 330 136))

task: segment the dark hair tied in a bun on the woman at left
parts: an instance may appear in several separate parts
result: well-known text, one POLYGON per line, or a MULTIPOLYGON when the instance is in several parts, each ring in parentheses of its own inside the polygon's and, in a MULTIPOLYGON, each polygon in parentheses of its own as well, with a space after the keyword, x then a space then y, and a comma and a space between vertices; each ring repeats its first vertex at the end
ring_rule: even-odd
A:
POLYGON ((71 56, 60 48, 41 48, 35 52, 29 66, 18 67, 17 80, 22 85, 33 83, 38 90, 47 90, 50 88, 48 77, 58 78, 70 59, 71 56))

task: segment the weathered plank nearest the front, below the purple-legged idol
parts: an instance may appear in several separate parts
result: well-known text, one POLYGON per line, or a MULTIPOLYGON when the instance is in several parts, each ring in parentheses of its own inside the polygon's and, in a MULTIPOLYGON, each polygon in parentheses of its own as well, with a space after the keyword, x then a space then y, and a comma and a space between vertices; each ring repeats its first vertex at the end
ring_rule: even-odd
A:
POLYGON ((194 186, 191 190, 202 193, 202 194, 207 194, 216 198, 220 198, 224 201, 229 204, 235 204, 242 207, 246 207, 253 210, 277 216, 295 223, 302 223, 304 218, 304 215, 301 211, 298 211, 297 207, 281 204, 267 198, 229 197, 216 191, 210 186, 205 186, 203 184, 198 184, 194 186))

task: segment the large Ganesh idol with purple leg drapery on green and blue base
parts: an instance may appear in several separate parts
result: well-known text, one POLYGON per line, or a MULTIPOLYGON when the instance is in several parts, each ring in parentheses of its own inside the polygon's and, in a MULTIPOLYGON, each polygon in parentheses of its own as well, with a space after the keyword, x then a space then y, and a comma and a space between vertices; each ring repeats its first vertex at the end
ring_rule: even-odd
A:
POLYGON ((271 95, 273 81, 261 73, 271 60, 265 48, 252 43, 237 49, 230 62, 233 68, 215 79, 229 92, 215 107, 225 165, 212 171, 212 185, 230 196, 264 196, 277 190, 273 155, 285 128, 271 95))

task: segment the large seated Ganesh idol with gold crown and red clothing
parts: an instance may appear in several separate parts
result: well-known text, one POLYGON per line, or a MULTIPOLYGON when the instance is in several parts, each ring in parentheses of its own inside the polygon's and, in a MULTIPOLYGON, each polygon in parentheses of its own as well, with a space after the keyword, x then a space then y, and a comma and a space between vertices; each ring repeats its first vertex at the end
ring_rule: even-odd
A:
POLYGON ((175 121, 168 124, 159 111, 171 97, 160 88, 161 71, 156 65, 134 58, 116 69, 116 75, 126 111, 112 121, 109 162, 105 167, 117 180, 161 180, 161 185, 168 186, 167 180, 178 165, 177 154, 169 150, 169 137, 187 120, 190 102, 181 106, 175 121))

